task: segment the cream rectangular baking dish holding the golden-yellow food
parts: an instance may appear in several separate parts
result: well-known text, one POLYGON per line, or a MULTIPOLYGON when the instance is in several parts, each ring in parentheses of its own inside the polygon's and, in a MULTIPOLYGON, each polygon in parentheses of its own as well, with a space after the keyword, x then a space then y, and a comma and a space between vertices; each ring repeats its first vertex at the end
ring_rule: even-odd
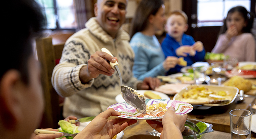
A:
POLYGON ((237 97, 238 95, 238 88, 237 87, 233 87, 233 86, 224 86, 224 85, 196 85, 196 84, 192 84, 190 86, 186 86, 183 88, 182 91, 180 91, 179 93, 177 93, 174 97, 173 100, 179 100, 179 101, 184 101, 184 102, 188 102, 190 104, 193 105, 205 105, 205 106, 224 106, 224 105, 228 105, 231 104, 237 97), (211 101, 210 99, 207 98, 202 98, 202 99, 184 99, 183 98, 183 94, 187 91, 189 91, 191 88, 193 87, 204 87, 204 88, 209 88, 210 90, 214 90, 214 91, 224 91, 227 94, 230 94, 228 96, 228 102, 227 103, 219 103, 219 104, 207 104, 209 101, 211 101))

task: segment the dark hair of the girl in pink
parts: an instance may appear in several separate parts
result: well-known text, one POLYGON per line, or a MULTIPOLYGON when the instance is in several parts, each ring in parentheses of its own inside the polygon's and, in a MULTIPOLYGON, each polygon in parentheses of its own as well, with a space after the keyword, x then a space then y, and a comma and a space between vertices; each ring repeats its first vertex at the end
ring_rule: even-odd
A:
MULTIPOLYGON (((242 33, 250 33, 251 32, 251 28, 253 26, 254 14, 251 13, 251 12, 249 13, 247 11, 247 9, 245 7, 243 7, 243 6, 236 6, 236 7, 231 8, 228 11, 228 14, 233 14, 234 12, 239 12, 242 15, 242 17, 244 18, 244 21, 247 24, 242 29, 242 33)), ((221 27, 221 31, 219 32, 219 35, 224 34, 227 31, 227 25, 226 25, 227 17, 223 21, 223 26, 221 27)))

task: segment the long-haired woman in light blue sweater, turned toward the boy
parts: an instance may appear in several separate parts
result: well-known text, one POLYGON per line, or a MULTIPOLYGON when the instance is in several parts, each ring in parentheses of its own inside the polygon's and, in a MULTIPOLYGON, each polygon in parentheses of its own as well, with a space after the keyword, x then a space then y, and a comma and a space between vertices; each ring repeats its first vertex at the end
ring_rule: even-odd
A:
POLYGON ((166 21, 162 0, 142 0, 131 25, 130 45, 134 50, 133 75, 139 80, 145 77, 165 75, 176 66, 177 57, 163 54, 155 34, 163 30, 166 21))

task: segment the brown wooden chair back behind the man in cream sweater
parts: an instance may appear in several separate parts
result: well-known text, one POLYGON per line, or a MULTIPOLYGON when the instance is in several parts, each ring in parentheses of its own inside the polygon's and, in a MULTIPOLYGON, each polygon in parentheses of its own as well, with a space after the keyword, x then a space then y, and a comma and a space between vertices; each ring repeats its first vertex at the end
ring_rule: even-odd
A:
POLYGON ((60 96, 54 90, 51 82, 56 59, 61 58, 65 43, 52 43, 52 38, 36 40, 38 60, 41 63, 41 82, 45 99, 45 111, 39 128, 58 128, 58 121, 63 119, 60 96))

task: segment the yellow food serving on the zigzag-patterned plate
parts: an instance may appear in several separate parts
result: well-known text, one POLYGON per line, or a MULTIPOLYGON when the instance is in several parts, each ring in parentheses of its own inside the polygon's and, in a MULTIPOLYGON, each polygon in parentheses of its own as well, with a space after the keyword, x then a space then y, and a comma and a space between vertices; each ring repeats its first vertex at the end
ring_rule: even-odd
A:
POLYGON ((152 104, 152 105, 146 105, 146 107, 147 107, 146 113, 147 114, 156 114, 158 112, 166 112, 167 111, 166 106, 167 106, 167 104, 163 103, 163 102, 160 102, 157 104, 152 104))

